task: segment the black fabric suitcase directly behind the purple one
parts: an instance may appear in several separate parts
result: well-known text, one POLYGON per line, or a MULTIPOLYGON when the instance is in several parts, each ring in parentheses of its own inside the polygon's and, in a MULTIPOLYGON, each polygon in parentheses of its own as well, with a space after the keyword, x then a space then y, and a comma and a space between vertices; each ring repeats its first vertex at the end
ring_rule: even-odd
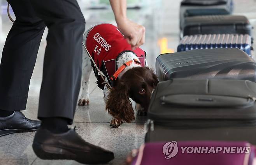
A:
POLYGON ((146 142, 248 141, 256 144, 256 83, 172 79, 158 83, 146 142))

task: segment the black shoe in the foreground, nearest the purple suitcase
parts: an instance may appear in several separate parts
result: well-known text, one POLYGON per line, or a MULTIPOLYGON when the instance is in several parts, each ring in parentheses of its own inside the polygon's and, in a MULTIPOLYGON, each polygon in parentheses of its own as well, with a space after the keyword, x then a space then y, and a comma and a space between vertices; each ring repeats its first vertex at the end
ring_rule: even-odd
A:
POLYGON ((32 147, 41 159, 67 159, 80 163, 107 163, 114 159, 114 153, 84 141, 75 129, 54 134, 40 128, 32 147))

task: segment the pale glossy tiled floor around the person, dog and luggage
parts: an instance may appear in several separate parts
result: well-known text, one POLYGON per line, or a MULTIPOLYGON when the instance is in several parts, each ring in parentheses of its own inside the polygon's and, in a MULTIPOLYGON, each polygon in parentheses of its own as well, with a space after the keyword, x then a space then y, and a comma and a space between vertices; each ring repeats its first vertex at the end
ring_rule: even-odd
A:
MULTIPOLYGON (((180 0, 141 0, 142 9, 128 10, 128 17, 146 27, 146 43, 142 46, 147 52, 147 61, 154 68, 155 59, 161 51, 176 51, 179 43, 179 2, 180 0), (167 41, 167 44, 165 42, 167 41), (160 47, 161 45, 161 47, 160 47)), ((86 29, 98 23, 113 23, 114 17, 110 9, 89 10, 88 3, 93 1, 79 0, 82 12, 86 18, 86 29)), ((7 17, 7 3, 0 0, 0 52, 7 33, 12 25, 7 17)), ((247 16, 256 27, 256 0, 235 0, 235 14, 247 16)), ((256 30, 253 31, 254 38, 256 30)), ((44 33, 37 62, 30 82, 30 91, 25 115, 37 118, 40 83, 44 48, 46 46, 47 30, 44 33)), ((256 48, 254 42, 254 48, 256 48)), ((15 45, 14 45, 15 46, 15 45)), ((0 54, 0 57, 2 54, 0 54)), ((96 79, 91 75, 91 82, 96 79)), ((109 165, 122 165, 126 155, 144 142, 145 117, 136 118, 133 123, 124 123, 120 128, 109 127, 110 116, 105 112, 102 91, 91 83, 90 105, 77 107, 74 124, 77 132, 86 141, 114 152, 115 159, 109 165)), ((40 160, 33 153, 32 141, 35 133, 19 133, 0 137, 0 165, 74 165, 74 161, 40 160)))

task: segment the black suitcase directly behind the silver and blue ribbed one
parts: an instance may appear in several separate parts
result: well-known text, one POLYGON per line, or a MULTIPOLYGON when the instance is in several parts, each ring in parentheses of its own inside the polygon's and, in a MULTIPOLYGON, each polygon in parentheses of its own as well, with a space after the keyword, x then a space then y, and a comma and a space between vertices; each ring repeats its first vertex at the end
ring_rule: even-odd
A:
POLYGON ((251 31, 252 26, 245 16, 194 16, 184 18, 181 38, 198 34, 248 34, 251 36, 251 31))

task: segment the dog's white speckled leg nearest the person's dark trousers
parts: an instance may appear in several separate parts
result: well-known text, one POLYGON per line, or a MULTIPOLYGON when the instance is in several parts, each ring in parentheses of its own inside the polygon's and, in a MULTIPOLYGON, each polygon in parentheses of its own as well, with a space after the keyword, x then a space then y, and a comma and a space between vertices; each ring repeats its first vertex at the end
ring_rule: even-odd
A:
POLYGON ((87 106, 89 104, 89 84, 90 74, 92 71, 91 61, 83 48, 83 62, 82 62, 82 82, 81 82, 81 96, 79 97, 79 106, 87 106))

